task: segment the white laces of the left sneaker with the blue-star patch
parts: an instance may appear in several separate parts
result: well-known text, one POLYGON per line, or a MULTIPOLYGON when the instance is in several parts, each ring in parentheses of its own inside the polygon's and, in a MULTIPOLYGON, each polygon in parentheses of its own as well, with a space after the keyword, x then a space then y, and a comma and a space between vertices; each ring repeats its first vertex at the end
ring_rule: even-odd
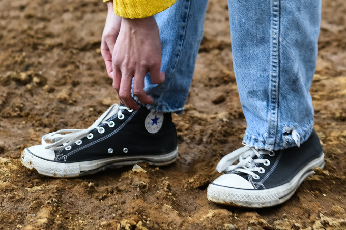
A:
MULTIPOLYGON (((97 129, 99 133, 104 132, 103 127, 99 127, 100 124, 108 124, 109 127, 114 126, 113 121, 107 121, 112 116, 118 114, 119 119, 124 119, 124 114, 122 114, 121 110, 126 109, 129 112, 132 112, 126 106, 120 106, 118 104, 113 104, 109 109, 104 112, 89 128, 86 129, 62 129, 56 132, 52 132, 46 134, 42 137, 41 143, 46 149, 51 150, 60 150, 63 148, 68 148, 71 144, 76 142, 76 144, 81 144, 81 140, 83 137, 88 137, 91 139, 93 135, 90 133, 93 129, 97 129), (67 133, 67 134, 62 134, 67 133), (50 140, 52 143, 47 143, 46 140, 50 140)), ((71 147, 70 147, 71 148, 71 147)))

